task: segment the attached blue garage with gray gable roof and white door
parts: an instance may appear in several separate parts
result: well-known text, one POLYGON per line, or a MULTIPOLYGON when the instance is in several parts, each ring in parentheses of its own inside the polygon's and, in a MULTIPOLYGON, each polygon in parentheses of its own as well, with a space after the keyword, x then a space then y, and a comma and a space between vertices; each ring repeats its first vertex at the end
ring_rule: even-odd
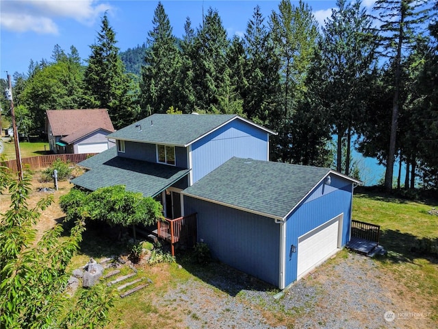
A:
POLYGON ((280 289, 350 239, 358 180, 327 168, 232 158, 182 191, 198 241, 223 263, 280 289))

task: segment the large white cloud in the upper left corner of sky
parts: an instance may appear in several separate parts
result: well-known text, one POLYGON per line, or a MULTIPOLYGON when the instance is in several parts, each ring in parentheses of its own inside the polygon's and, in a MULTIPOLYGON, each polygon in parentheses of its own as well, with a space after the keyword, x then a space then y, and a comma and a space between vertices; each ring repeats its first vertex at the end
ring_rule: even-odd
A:
POLYGON ((105 10, 112 7, 94 0, 1 1, 1 27, 14 32, 58 34, 56 20, 73 19, 91 25, 105 10))

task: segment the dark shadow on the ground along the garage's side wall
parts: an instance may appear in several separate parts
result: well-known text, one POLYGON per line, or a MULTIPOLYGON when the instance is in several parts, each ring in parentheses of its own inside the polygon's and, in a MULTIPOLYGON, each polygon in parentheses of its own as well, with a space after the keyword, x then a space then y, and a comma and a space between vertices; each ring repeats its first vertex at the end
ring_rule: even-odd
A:
POLYGON ((272 295, 279 292, 279 289, 272 284, 263 282, 219 261, 213 260, 207 264, 196 263, 191 250, 178 250, 176 254, 177 263, 186 271, 232 297, 242 291, 264 291, 272 293, 272 295))

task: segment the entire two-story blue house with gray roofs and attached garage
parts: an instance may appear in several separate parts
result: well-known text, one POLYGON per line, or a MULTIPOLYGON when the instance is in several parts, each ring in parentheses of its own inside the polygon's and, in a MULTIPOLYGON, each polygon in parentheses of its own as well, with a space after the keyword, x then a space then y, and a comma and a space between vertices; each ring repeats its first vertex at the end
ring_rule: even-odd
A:
POLYGON ((155 197, 170 225, 196 213, 215 258, 283 289, 349 241, 360 182, 269 162, 271 134, 234 114, 153 114, 110 134, 117 148, 81 162, 90 170, 72 182, 155 197))

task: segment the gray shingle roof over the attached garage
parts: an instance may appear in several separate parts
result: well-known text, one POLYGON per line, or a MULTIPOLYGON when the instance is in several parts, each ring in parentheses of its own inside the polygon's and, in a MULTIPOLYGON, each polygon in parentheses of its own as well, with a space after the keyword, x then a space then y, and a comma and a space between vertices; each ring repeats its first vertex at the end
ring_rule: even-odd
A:
POLYGON ((183 194, 282 219, 330 172, 328 168, 231 158, 183 194))

